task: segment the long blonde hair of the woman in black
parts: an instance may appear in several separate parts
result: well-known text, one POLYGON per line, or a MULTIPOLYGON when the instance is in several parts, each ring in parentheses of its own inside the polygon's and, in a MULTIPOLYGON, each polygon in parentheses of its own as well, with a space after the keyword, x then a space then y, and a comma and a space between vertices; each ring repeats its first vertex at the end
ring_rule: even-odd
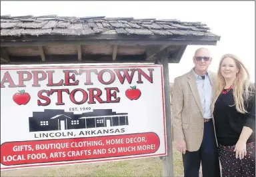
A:
MULTIPOLYGON (((250 83, 250 75, 248 70, 245 68, 245 65, 241 62, 241 60, 233 55, 233 54, 225 54, 221 57, 221 61, 219 62, 219 69, 216 77, 216 89, 213 97, 212 110, 214 110, 215 102, 221 94, 221 91, 225 87, 225 80, 221 75, 221 63, 225 58, 231 58, 235 61, 235 65, 239 69, 237 73, 237 77, 233 83, 233 96, 235 100, 235 108, 237 112, 241 112, 242 114, 247 113, 245 108, 245 102, 249 99, 251 95, 251 83, 250 83)), ((254 90, 254 89, 253 89, 254 90)), ((233 105, 230 105, 233 106, 233 105)))

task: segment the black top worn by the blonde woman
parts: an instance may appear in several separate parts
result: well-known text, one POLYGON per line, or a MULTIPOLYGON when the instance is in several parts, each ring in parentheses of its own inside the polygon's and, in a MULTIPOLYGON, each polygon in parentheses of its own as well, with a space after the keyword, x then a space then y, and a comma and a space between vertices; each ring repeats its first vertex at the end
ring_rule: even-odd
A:
POLYGON ((243 126, 253 130, 247 143, 255 142, 255 91, 249 97, 249 100, 245 102, 245 106, 247 113, 237 112, 234 105, 233 89, 227 92, 227 94, 221 93, 219 95, 213 111, 216 136, 219 144, 225 146, 237 144, 243 126))

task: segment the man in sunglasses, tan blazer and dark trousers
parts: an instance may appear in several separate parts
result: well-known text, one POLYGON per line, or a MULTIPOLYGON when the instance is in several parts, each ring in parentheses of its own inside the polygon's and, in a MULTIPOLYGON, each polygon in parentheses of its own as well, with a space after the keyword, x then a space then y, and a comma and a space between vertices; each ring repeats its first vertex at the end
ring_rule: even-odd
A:
POLYGON ((220 176, 211 101, 214 74, 208 49, 200 48, 193 57, 195 67, 177 77, 173 85, 173 132, 176 148, 183 153, 184 176, 220 176))

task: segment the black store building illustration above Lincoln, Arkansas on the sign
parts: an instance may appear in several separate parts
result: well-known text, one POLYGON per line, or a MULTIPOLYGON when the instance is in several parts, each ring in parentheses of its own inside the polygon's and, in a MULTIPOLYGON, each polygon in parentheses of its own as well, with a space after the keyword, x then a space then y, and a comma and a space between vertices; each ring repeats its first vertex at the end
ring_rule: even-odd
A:
POLYGON ((95 109, 83 114, 45 109, 44 112, 33 112, 33 117, 29 117, 29 132, 123 125, 129 125, 128 114, 116 113, 112 109, 95 109))

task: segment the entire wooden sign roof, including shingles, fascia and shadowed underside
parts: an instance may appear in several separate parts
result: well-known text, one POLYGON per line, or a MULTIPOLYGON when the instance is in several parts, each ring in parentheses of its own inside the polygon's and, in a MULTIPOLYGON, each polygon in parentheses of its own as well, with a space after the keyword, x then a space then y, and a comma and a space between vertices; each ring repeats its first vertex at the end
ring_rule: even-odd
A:
POLYGON ((133 17, 1 15, 1 61, 179 63, 187 45, 216 45, 201 22, 133 17))

